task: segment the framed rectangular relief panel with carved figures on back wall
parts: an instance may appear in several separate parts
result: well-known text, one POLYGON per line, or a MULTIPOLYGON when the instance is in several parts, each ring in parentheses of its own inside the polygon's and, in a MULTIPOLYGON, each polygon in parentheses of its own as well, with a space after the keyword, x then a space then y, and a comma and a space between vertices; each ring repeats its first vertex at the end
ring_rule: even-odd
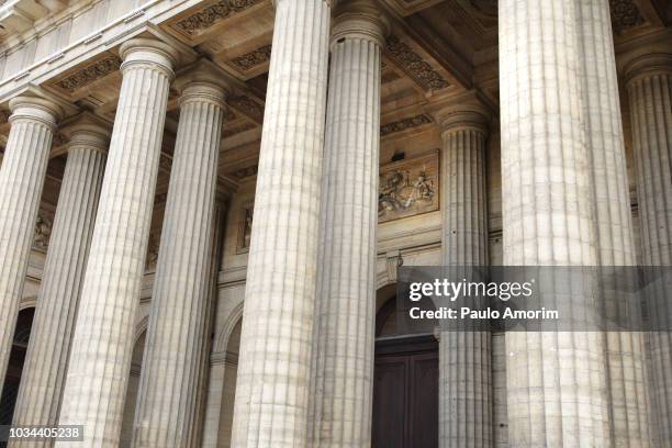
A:
POLYGON ((380 167, 378 222, 438 210, 438 152, 380 167))

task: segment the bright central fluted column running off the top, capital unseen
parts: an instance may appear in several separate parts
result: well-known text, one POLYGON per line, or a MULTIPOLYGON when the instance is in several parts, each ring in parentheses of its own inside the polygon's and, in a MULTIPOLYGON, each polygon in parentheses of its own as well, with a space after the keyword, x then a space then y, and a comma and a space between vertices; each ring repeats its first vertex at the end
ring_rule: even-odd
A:
POLYGON ((278 0, 232 446, 303 448, 313 336, 329 3, 278 0))

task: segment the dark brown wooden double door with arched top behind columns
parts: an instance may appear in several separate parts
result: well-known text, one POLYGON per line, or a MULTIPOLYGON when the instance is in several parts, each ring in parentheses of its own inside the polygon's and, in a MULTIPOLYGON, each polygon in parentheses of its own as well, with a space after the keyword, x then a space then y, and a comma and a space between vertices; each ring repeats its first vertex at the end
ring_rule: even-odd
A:
POLYGON ((438 343, 430 323, 407 318, 396 296, 376 317, 372 447, 438 447, 438 343))

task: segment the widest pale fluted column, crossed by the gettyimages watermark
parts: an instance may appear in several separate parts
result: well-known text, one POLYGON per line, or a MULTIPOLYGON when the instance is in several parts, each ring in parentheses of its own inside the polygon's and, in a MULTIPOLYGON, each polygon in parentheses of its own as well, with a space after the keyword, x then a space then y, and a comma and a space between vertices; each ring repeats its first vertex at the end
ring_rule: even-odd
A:
MULTIPOLYGON (((499 9, 504 265, 594 266, 574 2, 499 9)), ((604 340, 583 329, 506 334, 512 447, 609 446, 604 340)))

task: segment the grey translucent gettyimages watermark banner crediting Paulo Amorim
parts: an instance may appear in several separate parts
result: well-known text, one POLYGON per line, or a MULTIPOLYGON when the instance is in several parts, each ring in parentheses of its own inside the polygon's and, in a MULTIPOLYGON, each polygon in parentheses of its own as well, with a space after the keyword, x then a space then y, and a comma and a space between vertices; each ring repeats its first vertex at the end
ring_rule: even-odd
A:
POLYGON ((670 267, 401 267, 397 326, 440 331, 669 332, 670 267))

